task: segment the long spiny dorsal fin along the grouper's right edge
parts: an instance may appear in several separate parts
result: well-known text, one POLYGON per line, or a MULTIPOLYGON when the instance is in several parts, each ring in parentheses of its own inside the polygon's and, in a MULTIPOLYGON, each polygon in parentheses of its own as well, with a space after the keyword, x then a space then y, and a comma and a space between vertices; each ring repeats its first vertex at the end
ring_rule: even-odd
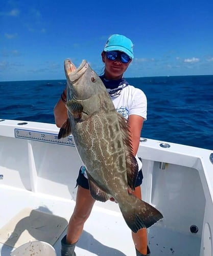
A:
POLYGON ((120 114, 117 113, 117 116, 119 118, 119 123, 121 127, 124 147, 125 147, 125 153, 126 153, 126 165, 127 165, 127 181, 128 186, 134 190, 135 189, 135 182, 137 179, 138 174, 138 164, 137 160, 135 159, 133 155, 132 150, 132 140, 130 138, 130 131, 129 126, 126 122, 126 119, 120 114))

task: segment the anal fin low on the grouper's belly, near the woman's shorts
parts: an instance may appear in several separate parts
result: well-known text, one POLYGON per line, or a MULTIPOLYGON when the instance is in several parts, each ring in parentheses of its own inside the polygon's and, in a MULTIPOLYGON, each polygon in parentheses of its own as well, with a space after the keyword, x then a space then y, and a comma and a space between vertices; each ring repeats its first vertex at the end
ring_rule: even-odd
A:
POLYGON ((88 175, 88 172, 87 172, 87 176, 89 181, 89 191, 92 198, 94 200, 106 202, 110 198, 109 195, 96 184, 93 178, 90 175, 88 175))

